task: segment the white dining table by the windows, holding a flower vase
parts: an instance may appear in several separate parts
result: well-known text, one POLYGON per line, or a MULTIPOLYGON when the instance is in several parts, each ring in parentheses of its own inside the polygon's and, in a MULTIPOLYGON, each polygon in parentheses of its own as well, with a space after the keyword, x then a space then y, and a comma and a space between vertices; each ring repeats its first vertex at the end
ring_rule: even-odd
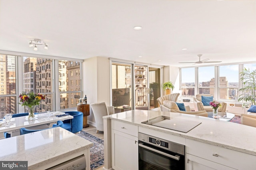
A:
MULTIPOLYGON (((67 115, 60 111, 50 113, 52 113, 50 116, 48 116, 47 113, 35 114, 36 119, 30 121, 28 121, 28 116, 13 117, 10 120, 10 125, 6 126, 6 123, 3 123, 0 126, 0 139, 4 138, 4 132, 10 133, 11 136, 16 136, 19 135, 20 128, 22 127, 28 129, 32 129, 30 127, 35 127, 34 129, 45 129, 49 128, 50 125, 56 123, 58 120, 64 121, 74 118, 72 115, 67 115)), ((5 119, 0 119, 0 122, 1 121, 5 121, 5 119)))

